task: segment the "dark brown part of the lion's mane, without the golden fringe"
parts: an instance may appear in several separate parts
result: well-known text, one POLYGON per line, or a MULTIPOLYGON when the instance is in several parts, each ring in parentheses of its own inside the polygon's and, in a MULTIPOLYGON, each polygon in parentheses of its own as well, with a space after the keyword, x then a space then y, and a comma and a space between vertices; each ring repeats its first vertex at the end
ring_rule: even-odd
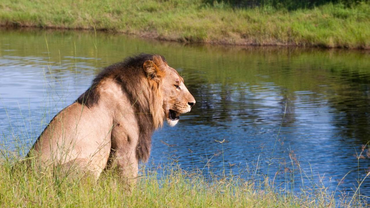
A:
MULTIPOLYGON (((76 100, 76 102, 88 108, 97 105, 100 99, 98 89, 100 82, 105 78, 112 78, 115 80, 115 82, 121 86, 122 91, 129 95, 131 106, 136 113, 135 118, 139 125, 139 141, 136 148, 136 157, 141 161, 147 161, 149 159, 151 138, 155 127, 153 125, 152 112, 149 109, 149 103, 151 101, 148 99, 139 101, 137 98, 139 96, 144 96, 142 92, 139 92, 142 87, 149 88, 148 86, 142 86, 140 80, 143 76, 146 76, 143 69, 144 62, 153 60, 154 56, 158 55, 141 53, 104 68, 104 70, 94 78, 91 87, 76 100)), ((166 62, 163 56, 160 57, 166 62)), ((150 95, 145 95, 145 97, 149 98, 150 95)), ((112 149, 114 149, 114 142, 112 142, 112 149)))

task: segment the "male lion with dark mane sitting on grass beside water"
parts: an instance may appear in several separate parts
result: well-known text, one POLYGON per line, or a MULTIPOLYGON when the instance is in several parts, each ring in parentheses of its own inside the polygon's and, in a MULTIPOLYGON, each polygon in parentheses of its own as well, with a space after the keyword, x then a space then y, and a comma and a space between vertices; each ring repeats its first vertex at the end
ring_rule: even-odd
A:
POLYGON ((165 118, 176 125, 194 104, 184 80, 163 56, 129 57, 105 68, 55 115, 28 157, 37 157, 43 166, 77 165, 96 178, 109 160, 121 177, 135 178, 138 162, 149 158, 153 131, 165 118))

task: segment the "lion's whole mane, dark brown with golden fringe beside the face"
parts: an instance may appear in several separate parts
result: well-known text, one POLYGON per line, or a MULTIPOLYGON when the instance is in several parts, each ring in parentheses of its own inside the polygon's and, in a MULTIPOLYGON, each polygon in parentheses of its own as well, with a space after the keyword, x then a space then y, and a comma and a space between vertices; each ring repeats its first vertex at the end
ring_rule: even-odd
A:
MULTIPOLYGON (((164 77, 164 74, 158 74, 158 80, 152 80, 148 77, 143 70, 143 64, 147 60, 153 61, 159 69, 165 67, 166 64, 163 56, 155 54, 142 53, 138 56, 128 57, 122 62, 104 68, 92 81, 91 87, 76 100, 76 102, 91 108, 97 105, 101 99, 99 92, 101 81, 112 78, 119 84, 122 91, 128 94, 135 112, 135 119, 139 125, 136 157, 144 162, 149 158, 153 131, 163 125, 164 118, 163 97, 160 90, 161 77, 164 77)), ((163 70, 160 71, 164 73, 163 70)))

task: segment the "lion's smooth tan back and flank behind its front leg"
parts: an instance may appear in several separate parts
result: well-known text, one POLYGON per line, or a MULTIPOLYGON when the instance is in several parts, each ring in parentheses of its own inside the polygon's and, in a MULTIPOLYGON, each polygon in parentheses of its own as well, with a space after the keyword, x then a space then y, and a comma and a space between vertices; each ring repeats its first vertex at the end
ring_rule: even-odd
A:
POLYGON ((50 121, 36 140, 33 151, 41 154, 41 160, 54 163, 89 158, 97 151, 109 154, 110 120, 100 109, 73 103, 50 121))

